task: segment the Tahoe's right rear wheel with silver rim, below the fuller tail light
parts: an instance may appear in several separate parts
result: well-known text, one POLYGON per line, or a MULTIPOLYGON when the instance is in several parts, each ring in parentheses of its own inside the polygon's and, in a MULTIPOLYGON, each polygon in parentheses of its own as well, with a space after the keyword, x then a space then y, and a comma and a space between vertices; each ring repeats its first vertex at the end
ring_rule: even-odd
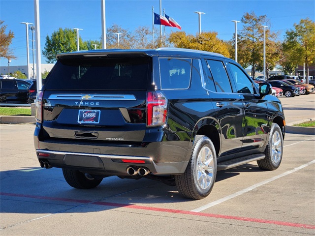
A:
POLYGON ((175 176, 178 191, 189 199, 207 197, 217 176, 217 155, 207 136, 196 135, 186 171, 175 176))

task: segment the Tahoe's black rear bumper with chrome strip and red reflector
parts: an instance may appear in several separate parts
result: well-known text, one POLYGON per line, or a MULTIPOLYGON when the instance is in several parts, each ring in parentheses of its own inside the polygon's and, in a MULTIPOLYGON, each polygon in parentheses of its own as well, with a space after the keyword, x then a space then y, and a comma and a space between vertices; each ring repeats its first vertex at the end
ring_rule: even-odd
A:
POLYGON ((38 161, 48 161, 53 167, 108 176, 127 176, 128 167, 146 167, 154 175, 183 174, 191 152, 187 141, 115 147, 41 142, 34 136, 34 145, 38 161))

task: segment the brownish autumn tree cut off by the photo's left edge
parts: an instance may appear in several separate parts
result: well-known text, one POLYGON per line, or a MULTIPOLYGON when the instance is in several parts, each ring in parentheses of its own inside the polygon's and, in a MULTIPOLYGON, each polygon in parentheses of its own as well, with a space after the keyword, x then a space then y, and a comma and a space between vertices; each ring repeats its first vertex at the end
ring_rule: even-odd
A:
POLYGON ((9 49, 12 39, 14 38, 14 33, 9 30, 5 33, 6 25, 3 25, 4 21, 0 20, 0 58, 15 59, 12 49, 9 49))

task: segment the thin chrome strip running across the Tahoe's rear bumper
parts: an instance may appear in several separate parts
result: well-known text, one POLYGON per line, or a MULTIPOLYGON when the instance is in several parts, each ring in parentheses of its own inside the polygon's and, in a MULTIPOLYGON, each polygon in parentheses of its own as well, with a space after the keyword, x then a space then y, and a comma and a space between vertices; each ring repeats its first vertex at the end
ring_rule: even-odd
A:
MULTIPOLYGON (((147 156, 119 156, 119 155, 105 155, 105 154, 97 154, 97 153, 84 153, 84 152, 67 152, 67 151, 52 151, 52 150, 42 150, 42 149, 37 149, 36 153, 47 153, 47 154, 56 154, 56 155, 80 155, 80 156, 97 156, 97 157, 102 157, 102 158, 110 158, 110 159, 137 159, 137 160, 148 160, 152 161, 151 157, 147 156)), ((44 157, 43 157, 44 158, 44 157)))

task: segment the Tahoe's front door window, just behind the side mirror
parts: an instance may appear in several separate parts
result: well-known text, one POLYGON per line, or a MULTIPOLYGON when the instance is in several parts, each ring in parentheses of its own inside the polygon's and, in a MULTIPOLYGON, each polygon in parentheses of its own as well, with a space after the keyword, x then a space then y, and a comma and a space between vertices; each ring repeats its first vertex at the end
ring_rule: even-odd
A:
POLYGON ((229 64, 232 71, 232 75, 235 80, 237 92, 254 94, 252 81, 250 81, 250 79, 238 66, 232 63, 229 63, 229 64))

